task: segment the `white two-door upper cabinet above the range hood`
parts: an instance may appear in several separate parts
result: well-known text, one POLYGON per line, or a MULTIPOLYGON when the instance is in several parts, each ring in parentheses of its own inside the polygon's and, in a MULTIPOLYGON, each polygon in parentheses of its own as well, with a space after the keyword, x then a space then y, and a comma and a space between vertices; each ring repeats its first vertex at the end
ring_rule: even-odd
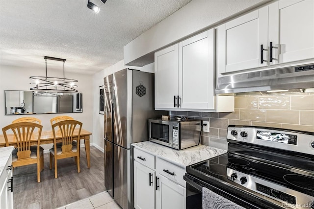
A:
POLYGON ((218 26, 220 74, 314 58, 314 1, 280 0, 218 26))

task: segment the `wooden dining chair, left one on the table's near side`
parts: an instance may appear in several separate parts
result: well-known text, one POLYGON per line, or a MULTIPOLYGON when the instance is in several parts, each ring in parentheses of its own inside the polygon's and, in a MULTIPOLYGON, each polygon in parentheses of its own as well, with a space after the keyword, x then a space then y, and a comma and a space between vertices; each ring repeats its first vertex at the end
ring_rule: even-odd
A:
POLYGON ((31 122, 13 123, 4 128, 2 132, 5 139, 6 146, 9 146, 8 131, 13 132, 12 138, 16 140, 17 148, 12 152, 12 166, 13 168, 23 165, 30 165, 37 163, 37 182, 40 182, 40 172, 42 171, 43 152, 40 151, 40 136, 43 126, 31 122), (38 129, 38 131, 35 131, 38 129), (36 149, 31 149, 31 140, 37 143, 36 149))

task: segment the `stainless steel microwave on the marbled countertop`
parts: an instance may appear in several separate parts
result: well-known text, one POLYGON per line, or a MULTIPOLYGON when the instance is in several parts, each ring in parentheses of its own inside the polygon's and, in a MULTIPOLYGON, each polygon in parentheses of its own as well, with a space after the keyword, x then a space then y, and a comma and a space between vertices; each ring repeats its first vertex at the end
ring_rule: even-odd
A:
POLYGON ((173 149, 182 150, 199 144, 201 120, 148 119, 149 140, 173 149))

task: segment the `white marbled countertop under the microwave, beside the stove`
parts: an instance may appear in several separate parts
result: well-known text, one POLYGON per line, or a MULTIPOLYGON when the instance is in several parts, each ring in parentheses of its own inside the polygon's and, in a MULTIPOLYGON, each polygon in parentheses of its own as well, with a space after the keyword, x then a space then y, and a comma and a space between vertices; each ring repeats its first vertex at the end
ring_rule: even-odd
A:
POLYGON ((227 152, 227 150, 221 150, 205 145, 197 145, 184 150, 175 150, 151 141, 133 143, 132 146, 177 164, 183 168, 187 165, 191 165, 227 152))

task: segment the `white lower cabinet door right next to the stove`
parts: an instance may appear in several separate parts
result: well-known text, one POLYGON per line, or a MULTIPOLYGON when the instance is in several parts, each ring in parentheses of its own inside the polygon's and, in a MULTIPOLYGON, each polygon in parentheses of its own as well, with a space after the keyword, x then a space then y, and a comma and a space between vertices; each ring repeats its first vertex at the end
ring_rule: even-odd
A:
POLYGON ((185 188, 159 175, 156 191, 157 209, 185 209, 185 188))

